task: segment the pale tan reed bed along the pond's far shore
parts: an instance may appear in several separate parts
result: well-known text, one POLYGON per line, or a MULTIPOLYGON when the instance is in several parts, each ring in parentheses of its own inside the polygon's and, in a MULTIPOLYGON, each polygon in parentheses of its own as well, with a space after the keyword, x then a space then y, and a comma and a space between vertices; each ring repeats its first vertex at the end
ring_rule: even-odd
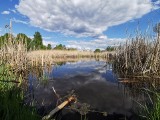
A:
POLYGON ((110 55, 115 52, 100 52, 94 53, 92 51, 68 51, 68 50, 38 50, 28 52, 27 58, 32 66, 44 66, 45 64, 53 64, 63 61, 77 61, 80 58, 104 58, 109 59, 110 55))

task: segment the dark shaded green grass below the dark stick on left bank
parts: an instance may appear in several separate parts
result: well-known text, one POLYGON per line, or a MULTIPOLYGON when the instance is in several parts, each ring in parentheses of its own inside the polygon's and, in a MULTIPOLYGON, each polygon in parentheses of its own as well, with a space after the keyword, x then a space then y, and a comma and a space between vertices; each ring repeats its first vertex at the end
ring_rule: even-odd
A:
POLYGON ((39 120, 34 108, 23 103, 21 89, 13 88, 0 92, 0 119, 2 120, 39 120))

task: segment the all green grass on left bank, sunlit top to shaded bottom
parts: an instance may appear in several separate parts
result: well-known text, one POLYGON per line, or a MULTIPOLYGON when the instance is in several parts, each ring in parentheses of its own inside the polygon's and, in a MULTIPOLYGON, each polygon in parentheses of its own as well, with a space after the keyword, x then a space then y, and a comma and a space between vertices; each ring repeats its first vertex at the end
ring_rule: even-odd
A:
POLYGON ((39 120, 34 107, 24 104, 23 78, 11 66, 0 61, 0 120, 39 120), (14 83, 10 81, 19 81, 14 83), (7 81, 7 82, 4 82, 7 81))

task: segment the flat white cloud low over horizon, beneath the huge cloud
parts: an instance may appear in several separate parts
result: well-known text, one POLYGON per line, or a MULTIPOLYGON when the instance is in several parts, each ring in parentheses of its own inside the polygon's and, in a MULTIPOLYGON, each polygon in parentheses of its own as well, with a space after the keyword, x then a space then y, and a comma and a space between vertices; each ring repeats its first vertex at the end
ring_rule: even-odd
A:
POLYGON ((69 40, 66 47, 80 50, 95 50, 96 48, 104 50, 107 46, 119 46, 120 44, 125 43, 125 41, 126 39, 122 38, 105 38, 91 41, 69 40))

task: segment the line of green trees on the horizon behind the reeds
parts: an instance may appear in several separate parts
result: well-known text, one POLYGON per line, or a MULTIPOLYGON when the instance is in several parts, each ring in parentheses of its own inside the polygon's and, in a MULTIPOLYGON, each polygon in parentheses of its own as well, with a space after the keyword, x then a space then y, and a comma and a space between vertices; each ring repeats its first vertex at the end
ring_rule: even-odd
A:
MULTIPOLYGON (((12 34, 6 33, 2 36, 0 36, 0 48, 4 46, 6 43, 14 43, 15 41, 17 42, 22 42, 23 44, 26 45, 27 50, 77 50, 76 48, 67 48, 65 45, 59 44, 56 45, 54 48, 52 48, 51 44, 48 44, 45 46, 43 44, 43 39, 42 35, 40 32, 35 32, 33 39, 29 38, 27 35, 23 33, 17 34, 16 37, 14 37, 12 34)), ((114 47, 108 46, 105 51, 113 51, 114 47)), ((95 49, 94 52, 102 52, 100 49, 95 49)))

